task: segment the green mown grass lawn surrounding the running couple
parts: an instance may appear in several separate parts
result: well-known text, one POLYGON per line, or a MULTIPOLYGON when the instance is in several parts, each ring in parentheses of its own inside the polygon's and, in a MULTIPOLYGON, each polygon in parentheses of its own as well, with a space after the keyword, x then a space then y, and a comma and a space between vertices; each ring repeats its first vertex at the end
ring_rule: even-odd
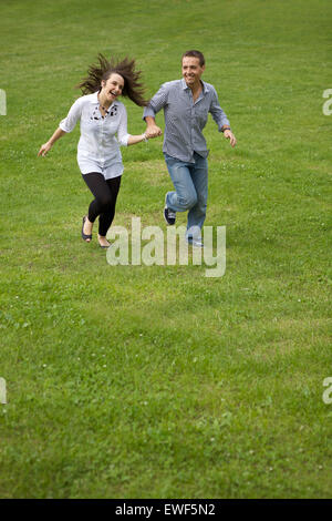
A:
MULTIPOLYGON (((0 14, 0 497, 331 498, 332 3, 12 0, 0 14), (190 48, 238 139, 205 131, 226 274, 112 267, 80 236, 79 127, 38 150, 98 52, 135 57, 152 95, 190 48)), ((162 141, 123 157, 114 224, 164 227, 162 141)))

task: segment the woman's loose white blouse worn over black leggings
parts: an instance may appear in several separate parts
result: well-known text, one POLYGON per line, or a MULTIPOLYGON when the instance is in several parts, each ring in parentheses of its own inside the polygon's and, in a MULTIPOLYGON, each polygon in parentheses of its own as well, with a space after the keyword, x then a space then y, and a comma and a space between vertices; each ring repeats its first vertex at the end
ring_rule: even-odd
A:
POLYGON ((121 101, 114 101, 105 118, 102 118, 97 92, 79 98, 71 106, 60 129, 72 132, 81 121, 81 137, 77 145, 77 163, 82 174, 100 172, 105 180, 123 173, 120 145, 127 146, 127 112, 121 101), (115 136, 117 134, 117 139, 115 136))

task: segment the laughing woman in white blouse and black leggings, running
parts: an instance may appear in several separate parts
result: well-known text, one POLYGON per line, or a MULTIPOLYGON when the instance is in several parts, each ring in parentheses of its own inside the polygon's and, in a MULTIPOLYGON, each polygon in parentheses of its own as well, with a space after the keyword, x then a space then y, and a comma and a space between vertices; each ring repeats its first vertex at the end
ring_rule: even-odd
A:
POLYGON ((139 75, 141 71, 135 71, 134 60, 125 58, 115 63, 98 54, 98 63, 90 67, 87 78, 77 85, 84 95, 74 102, 68 116, 38 153, 39 156, 45 156, 55 141, 71 132, 76 122, 81 121, 77 163, 83 180, 95 197, 89 206, 87 215, 83 217, 81 235, 90 243, 93 223, 100 216, 98 243, 102 248, 110 246, 106 234, 114 218, 123 173, 120 144, 134 145, 148 137, 145 133, 127 133, 126 109, 118 101, 118 96, 123 95, 138 106, 147 104, 143 98, 139 75))

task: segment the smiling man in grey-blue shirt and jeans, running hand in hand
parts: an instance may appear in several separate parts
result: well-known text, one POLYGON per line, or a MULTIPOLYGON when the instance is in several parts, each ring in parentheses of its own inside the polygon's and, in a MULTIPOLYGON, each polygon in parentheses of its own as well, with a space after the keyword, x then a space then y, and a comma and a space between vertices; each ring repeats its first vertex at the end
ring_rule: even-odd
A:
POLYGON ((186 238, 194 246, 203 246, 201 227, 206 217, 208 193, 208 150, 203 135, 208 113, 212 114, 219 132, 236 145, 229 121, 219 105, 212 85, 201 81, 205 58, 200 51, 183 55, 183 80, 164 83, 144 110, 146 135, 162 134, 156 125, 156 113, 164 109, 165 136, 163 152, 175 192, 165 198, 164 217, 175 224, 176 212, 188 211, 186 238))

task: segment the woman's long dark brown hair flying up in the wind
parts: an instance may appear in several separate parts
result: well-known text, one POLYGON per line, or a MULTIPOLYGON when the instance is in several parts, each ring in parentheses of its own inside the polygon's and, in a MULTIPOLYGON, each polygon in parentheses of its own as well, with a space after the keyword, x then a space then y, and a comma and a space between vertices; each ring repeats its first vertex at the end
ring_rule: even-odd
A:
POLYGON ((125 58, 122 61, 115 61, 113 58, 108 61, 103 54, 97 57, 98 63, 90 65, 87 76, 76 85, 83 94, 90 94, 101 91, 102 81, 107 81, 113 72, 124 79, 122 95, 129 98, 136 105, 146 106, 148 101, 144 99, 144 86, 139 82, 142 71, 135 71, 135 60, 125 58))

